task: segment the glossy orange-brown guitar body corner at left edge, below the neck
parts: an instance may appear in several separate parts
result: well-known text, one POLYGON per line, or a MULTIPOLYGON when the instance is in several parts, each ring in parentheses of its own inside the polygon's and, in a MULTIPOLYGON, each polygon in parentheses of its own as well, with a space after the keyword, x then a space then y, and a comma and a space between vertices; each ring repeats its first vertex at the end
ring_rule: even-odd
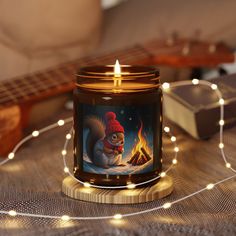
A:
POLYGON ((14 105, 0 108, 0 155, 7 155, 22 138, 21 109, 14 105))

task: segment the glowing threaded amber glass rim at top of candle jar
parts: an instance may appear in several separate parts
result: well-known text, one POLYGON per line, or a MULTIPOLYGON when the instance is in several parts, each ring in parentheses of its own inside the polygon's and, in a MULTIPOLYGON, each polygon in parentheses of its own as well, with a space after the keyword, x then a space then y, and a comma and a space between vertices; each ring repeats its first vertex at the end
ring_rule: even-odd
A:
POLYGON ((121 76, 114 65, 81 67, 76 87, 95 92, 138 92, 160 87, 160 73, 155 66, 121 65, 121 76))

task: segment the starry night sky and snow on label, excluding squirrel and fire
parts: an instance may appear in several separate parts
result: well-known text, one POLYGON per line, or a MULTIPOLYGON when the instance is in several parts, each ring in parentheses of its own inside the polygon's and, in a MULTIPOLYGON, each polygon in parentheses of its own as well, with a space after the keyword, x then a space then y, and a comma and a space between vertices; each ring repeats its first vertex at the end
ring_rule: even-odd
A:
POLYGON ((122 163, 125 166, 112 166, 108 169, 95 166, 89 159, 86 153, 86 137, 88 135, 88 129, 83 129, 83 170, 89 173, 96 174, 141 174, 150 172, 153 170, 153 158, 149 162, 140 166, 133 166, 127 163, 131 158, 132 149, 138 142, 138 131, 143 123, 142 135, 145 138, 148 147, 149 155, 153 157, 153 106, 93 106, 83 105, 83 117, 95 116, 99 120, 102 120, 105 124, 106 112, 114 112, 116 119, 124 127, 125 130, 125 143, 124 152, 122 154, 122 163))

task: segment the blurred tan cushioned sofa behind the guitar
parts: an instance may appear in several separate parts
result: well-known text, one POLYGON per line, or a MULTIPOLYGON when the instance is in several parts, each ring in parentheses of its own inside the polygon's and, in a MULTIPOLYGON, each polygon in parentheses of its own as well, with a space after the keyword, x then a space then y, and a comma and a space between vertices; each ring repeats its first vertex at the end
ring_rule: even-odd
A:
MULTIPOLYGON (((0 0, 0 80, 173 35, 235 48, 235 8, 233 0, 0 0)), ((187 75, 172 69, 162 79, 187 75)))

